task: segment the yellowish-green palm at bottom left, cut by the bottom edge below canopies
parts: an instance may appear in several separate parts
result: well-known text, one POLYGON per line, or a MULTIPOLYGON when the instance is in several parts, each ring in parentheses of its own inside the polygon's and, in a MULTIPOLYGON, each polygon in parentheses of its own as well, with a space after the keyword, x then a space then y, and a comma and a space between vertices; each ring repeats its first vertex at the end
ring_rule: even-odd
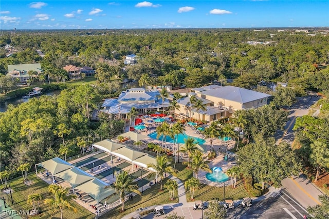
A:
POLYGON ((48 187, 49 193, 53 195, 53 198, 46 198, 45 204, 54 208, 59 208, 61 211, 61 219, 63 219, 63 208, 67 207, 69 210, 77 212, 77 209, 70 204, 70 201, 76 197, 76 195, 69 194, 68 188, 62 186, 50 185, 48 187))

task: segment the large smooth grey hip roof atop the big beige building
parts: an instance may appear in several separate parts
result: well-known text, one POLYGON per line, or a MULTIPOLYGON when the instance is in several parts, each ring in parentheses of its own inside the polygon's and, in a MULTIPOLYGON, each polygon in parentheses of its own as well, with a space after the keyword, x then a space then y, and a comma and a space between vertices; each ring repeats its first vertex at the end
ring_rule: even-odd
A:
POLYGON ((205 90, 200 92, 200 94, 228 99, 230 101, 234 101, 241 104, 271 96, 266 93, 261 93, 261 92, 248 90, 240 87, 233 87, 233 86, 225 86, 216 89, 205 90))

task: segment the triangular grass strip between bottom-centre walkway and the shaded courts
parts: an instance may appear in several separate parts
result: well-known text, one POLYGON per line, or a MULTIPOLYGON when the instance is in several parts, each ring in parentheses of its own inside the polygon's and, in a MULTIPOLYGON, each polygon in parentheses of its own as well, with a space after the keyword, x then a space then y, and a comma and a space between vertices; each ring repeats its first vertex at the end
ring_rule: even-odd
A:
MULTIPOLYGON (((166 183, 166 180, 163 182, 163 185, 166 183)), ((132 202, 125 202, 124 212, 120 213, 121 205, 112 209, 111 211, 105 213, 100 218, 112 218, 119 219, 126 214, 136 211, 138 208, 149 207, 153 205, 163 205, 168 203, 178 203, 178 193, 175 193, 175 200, 170 200, 168 190, 163 188, 163 191, 160 190, 160 184, 153 185, 152 188, 147 189, 143 192, 141 196, 136 195, 133 198, 132 202)))

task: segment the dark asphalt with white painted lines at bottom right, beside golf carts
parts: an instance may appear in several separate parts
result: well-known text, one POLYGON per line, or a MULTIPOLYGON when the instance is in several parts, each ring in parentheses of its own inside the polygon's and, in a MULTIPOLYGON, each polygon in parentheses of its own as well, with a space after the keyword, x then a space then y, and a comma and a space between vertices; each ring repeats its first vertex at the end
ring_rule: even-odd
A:
POLYGON ((293 218, 302 219, 306 214, 303 208, 291 195, 285 190, 281 190, 276 196, 270 197, 264 201, 253 203, 251 207, 229 209, 227 218, 293 218))

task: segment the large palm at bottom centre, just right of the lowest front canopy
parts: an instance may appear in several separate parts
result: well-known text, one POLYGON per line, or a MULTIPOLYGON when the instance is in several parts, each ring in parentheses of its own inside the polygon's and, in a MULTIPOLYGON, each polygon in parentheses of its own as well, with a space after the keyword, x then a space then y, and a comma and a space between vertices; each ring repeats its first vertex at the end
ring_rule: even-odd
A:
POLYGON ((127 192, 135 192, 141 195, 138 190, 136 182, 133 182, 133 179, 127 171, 120 170, 120 172, 115 172, 116 181, 111 185, 115 190, 115 195, 118 194, 120 201, 122 203, 121 211, 124 211, 124 197, 127 192))

